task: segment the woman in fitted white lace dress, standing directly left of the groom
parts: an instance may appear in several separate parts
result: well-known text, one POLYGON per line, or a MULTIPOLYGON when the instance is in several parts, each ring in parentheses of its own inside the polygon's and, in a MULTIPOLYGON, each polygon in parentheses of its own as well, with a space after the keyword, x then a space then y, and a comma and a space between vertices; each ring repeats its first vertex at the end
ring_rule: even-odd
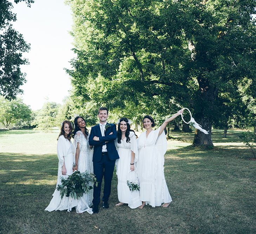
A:
MULTIPOLYGON (((88 139, 89 132, 86 128, 86 122, 83 117, 77 116, 74 120, 74 151, 75 151, 75 166, 73 167, 73 171, 79 172, 93 172, 93 164, 92 164, 92 155, 93 150, 90 148, 88 139)), ((92 184, 93 186, 93 184, 92 184)), ((84 213, 85 211, 89 214, 92 214, 92 209, 90 206, 92 205, 93 199, 93 189, 89 191, 88 194, 84 193, 84 195, 78 198, 78 205, 76 207, 76 212, 78 214, 84 213)))

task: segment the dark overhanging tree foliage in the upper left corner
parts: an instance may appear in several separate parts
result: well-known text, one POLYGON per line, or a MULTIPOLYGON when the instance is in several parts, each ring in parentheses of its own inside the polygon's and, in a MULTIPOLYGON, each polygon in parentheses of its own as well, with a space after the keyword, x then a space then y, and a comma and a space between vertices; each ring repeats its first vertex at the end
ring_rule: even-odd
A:
MULTIPOLYGON (((24 1, 30 7, 33 0, 24 1)), ((22 34, 12 27, 16 21, 16 14, 12 12, 13 5, 8 0, 0 1, 0 95, 7 99, 14 99, 22 93, 20 86, 25 82, 25 74, 21 72, 20 65, 27 64, 22 53, 29 51, 29 45, 22 34)))

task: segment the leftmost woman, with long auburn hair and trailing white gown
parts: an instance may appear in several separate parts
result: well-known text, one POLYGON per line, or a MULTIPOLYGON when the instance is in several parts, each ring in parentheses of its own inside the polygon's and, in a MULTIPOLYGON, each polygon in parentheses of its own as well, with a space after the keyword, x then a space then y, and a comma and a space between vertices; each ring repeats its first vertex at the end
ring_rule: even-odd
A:
MULTIPOLYGON (((62 123, 60 134, 57 139, 57 155, 59 159, 57 185, 61 184, 61 177, 66 178, 68 175, 71 175, 73 173, 72 167, 74 156, 73 145, 71 142, 72 130, 73 129, 71 122, 65 120, 62 123)), ((67 211, 70 212, 72 207, 75 206, 77 206, 77 200, 72 199, 71 196, 64 196, 61 199, 60 191, 55 189, 53 193, 53 198, 45 210, 51 212, 53 210, 67 209, 67 211)))

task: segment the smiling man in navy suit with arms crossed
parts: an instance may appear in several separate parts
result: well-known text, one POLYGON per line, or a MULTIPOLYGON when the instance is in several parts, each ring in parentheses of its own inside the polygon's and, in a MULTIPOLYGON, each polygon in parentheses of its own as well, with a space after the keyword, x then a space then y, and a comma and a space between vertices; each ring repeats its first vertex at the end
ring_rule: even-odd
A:
POLYGON ((101 182, 104 176, 103 208, 109 208, 109 196, 116 159, 119 159, 114 140, 117 138, 116 125, 107 123, 109 111, 106 107, 100 107, 98 111, 99 124, 92 127, 89 136, 89 145, 94 146, 93 172, 96 175, 98 186, 93 187, 94 214, 99 212, 101 182))

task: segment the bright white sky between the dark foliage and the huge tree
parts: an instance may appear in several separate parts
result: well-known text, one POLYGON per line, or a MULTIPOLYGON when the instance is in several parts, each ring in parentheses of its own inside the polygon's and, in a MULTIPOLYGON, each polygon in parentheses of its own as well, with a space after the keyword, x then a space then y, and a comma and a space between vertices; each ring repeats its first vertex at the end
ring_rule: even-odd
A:
POLYGON ((31 50, 24 53, 30 64, 21 67, 27 74, 21 98, 33 110, 40 109, 46 98, 62 103, 71 89, 64 68, 71 68, 69 61, 75 56, 68 33, 72 27, 69 6, 64 0, 35 0, 31 8, 24 2, 13 6, 17 14, 13 27, 31 44, 31 50))

